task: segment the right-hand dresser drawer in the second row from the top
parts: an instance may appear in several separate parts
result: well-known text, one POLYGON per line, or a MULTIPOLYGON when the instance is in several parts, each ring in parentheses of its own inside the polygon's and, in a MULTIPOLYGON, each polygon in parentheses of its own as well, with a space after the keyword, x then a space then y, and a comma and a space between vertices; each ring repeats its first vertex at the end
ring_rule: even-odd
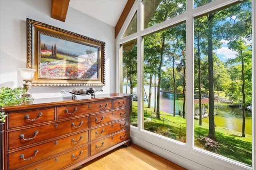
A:
POLYGON ((116 121, 130 117, 130 108, 120 109, 116 111, 109 111, 107 113, 98 113, 95 115, 90 115, 90 125, 95 127, 98 125, 106 124, 111 121, 116 121))

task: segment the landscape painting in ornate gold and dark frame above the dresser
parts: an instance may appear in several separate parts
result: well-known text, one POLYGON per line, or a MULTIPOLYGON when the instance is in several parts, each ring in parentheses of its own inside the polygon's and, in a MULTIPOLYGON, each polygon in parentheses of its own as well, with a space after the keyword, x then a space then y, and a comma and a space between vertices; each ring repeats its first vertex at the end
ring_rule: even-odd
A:
POLYGON ((104 86, 105 43, 27 19, 32 86, 104 86))

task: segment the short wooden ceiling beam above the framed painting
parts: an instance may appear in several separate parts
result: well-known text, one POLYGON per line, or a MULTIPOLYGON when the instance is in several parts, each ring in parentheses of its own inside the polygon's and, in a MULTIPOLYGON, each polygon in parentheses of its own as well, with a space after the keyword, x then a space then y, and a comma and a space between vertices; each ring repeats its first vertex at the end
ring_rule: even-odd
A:
POLYGON ((65 22, 70 0, 52 0, 51 18, 65 22))

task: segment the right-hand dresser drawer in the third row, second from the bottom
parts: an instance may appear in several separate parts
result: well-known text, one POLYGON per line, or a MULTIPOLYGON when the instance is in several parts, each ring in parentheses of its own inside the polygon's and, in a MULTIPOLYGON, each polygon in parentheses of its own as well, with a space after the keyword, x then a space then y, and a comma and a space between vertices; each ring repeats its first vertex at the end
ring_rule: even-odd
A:
POLYGON ((102 137, 105 137, 112 133, 121 131, 128 127, 129 127, 129 119, 124 119, 124 120, 121 120, 118 122, 114 122, 114 123, 110 123, 108 125, 98 127, 96 129, 91 129, 90 130, 90 137, 91 137, 90 141, 101 139, 102 137))

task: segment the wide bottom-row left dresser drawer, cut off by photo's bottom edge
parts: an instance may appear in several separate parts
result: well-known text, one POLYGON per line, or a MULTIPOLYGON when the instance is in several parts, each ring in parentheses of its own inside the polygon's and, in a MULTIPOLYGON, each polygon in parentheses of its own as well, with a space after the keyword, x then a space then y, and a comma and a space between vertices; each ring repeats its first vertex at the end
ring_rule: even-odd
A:
MULTIPOLYGON (((88 145, 56 156, 50 160, 25 168, 25 170, 59 170, 88 158, 88 145)), ((68 168, 67 168, 68 169, 68 168)), ((23 169, 22 169, 23 170, 23 169)))

